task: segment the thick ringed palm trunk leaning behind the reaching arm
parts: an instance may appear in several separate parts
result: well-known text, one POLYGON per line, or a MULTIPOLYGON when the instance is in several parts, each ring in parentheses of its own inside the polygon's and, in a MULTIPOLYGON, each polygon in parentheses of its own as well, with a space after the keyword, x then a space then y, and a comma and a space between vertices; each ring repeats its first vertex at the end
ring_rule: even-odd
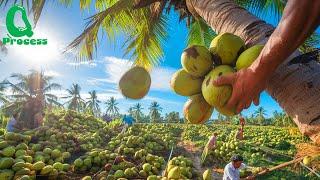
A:
MULTIPOLYGON (((231 0, 187 0, 189 11, 202 17, 217 33, 233 33, 248 46, 264 43, 274 30, 231 0)), ((298 125, 300 131, 320 144, 320 64, 311 61, 288 63, 294 52, 274 74, 267 92, 298 125)))

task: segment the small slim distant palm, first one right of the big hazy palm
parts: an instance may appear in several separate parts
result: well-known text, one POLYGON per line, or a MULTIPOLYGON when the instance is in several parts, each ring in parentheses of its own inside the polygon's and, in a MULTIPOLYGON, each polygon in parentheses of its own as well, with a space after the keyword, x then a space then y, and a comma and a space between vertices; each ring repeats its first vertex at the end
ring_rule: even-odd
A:
POLYGON ((79 84, 72 84, 70 89, 67 89, 68 95, 66 99, 69 99, 65 104, 67 104, 68 109, 72 109, 81 112, 85 108, 85 101, 80 95, 81 87, 79 84))

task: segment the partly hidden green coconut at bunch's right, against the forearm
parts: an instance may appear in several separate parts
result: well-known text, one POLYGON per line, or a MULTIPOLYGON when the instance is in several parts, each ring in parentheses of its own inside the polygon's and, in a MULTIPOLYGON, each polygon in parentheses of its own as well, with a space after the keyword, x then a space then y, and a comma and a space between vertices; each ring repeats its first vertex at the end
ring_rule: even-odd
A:
POLYGON ((248 68, 257 59, 263 47, 263 45, 255 45, 241 53, 236 63, 237 70, 248 68))

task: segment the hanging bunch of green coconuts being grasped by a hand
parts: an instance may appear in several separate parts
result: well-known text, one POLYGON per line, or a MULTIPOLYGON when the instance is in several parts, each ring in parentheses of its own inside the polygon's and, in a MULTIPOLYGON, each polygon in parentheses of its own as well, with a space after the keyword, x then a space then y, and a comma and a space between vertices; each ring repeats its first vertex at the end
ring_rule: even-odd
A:
POLYGON ((221 114, 235 115, 235 108, 225 107, 231 94, 230 85, 215 86, 220 76, 232 74, 249 67, 259 56, 263 45, 245 50, 244 41, 233 34, 215 37, 210 48, 192 45, 181 55, 182 69, 173 74, 170 85, 173 91, 190 97, 184 105, 184 116, 193 124, 206 122, 214 110, 221 114))

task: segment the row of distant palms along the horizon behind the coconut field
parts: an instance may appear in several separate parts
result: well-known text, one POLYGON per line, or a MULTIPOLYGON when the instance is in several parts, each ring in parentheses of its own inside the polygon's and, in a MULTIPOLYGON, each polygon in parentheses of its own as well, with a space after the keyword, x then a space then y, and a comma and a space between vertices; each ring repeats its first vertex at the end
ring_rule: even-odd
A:
MULTIPOLYGON (((78 112, 92 114, 105 121, 121 119, 124 114, 120 113, 119 103, 114 97, 106 102, 99 100, 97 91, 88 92, 89 97, 81 97, 79 84, 72 84, 66 89, 66 95, 58 97, 52 94, 53 90, 61 90, 62 86, 53 82, 53 77, 46 76, 44 72, 31 70, 28 74, 14 73, 8 79, 0 82, 0 108, 1 121, 18 112, 18 121, 28 125, 32 121, 32 114, 52 110, 53 108, 65 108, 78 112), (104 104, 105 109, 101 108, 104 104), (24 116, 21 116, 24 114, 24 116)), ((134 118, 136 123, 185 123, 179 112, 162 114, 163 108, 156 101, 149 107, 143 107, 140 102, 130 107, 126 114, 134 118), (143 111, 146 110, 146 111, 143 111), (144 113, 147 112, 147 113, 144 113)), ((292 119, 284 112, 273 112, 273 116, 267 118, 266 110, 259 107, 251 116, 245 117, 247 124, 253 125, 276 125, 295 126, 292 119)), ((238 124, 239 116, 226 117, 218 113, 216 119, 207 123, 238 124)), ((187 123, 187 122, 186 122, 187 123)))

